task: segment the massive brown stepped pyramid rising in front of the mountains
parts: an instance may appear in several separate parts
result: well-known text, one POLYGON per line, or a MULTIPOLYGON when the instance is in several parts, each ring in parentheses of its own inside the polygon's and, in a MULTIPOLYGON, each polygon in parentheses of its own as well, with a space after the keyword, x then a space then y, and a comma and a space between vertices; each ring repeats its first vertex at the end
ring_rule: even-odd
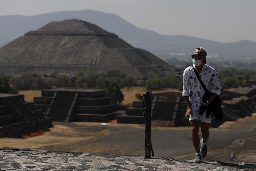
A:
POLYGON ((106 73, 112 68, 136 78, 150 71, 159 75, 175 72, 174 67, 150 52, 77 19, 50 22, 0 48, 0 72, 5 74, 55 71, 75 75, 78 71, 106 73))

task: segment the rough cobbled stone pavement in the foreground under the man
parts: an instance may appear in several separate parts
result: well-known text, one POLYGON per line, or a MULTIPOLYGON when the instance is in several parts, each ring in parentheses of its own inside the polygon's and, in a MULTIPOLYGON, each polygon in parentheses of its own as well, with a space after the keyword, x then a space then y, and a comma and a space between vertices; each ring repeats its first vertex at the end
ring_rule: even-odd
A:
MULTIPOLYGON (((234 161, 232 161, 234 162, 234 161)), ((255 164, 202 160, 194 164, 190 160, 168 157, 117 156, 99 153, 60 152, 38 149, 0 147, 0 171, 153 171, 153 170, 256 170, 255 164)))

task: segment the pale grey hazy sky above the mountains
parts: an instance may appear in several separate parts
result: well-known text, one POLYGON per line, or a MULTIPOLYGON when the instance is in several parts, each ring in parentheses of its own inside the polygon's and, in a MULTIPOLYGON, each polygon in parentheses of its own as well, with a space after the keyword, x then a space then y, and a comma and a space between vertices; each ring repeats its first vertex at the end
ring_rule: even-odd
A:
POLYGON ((75 10, 113 13, 163 35, 256 42, 256 0, 0 0, 0 16, 75 10))

